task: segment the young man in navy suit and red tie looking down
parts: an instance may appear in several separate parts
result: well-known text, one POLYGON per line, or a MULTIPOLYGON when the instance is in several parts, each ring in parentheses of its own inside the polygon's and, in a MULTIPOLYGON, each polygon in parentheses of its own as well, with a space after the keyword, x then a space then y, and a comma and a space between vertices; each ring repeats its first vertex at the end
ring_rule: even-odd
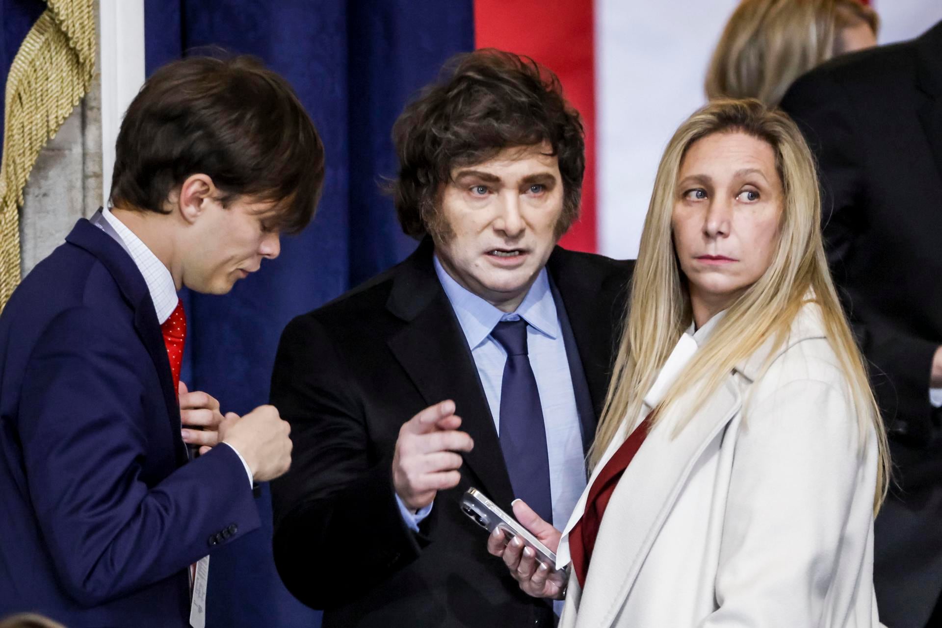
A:
POLYGON ((0 617, 179 628, 203 557, 259 526, 252 481, 287 470, 288 425, 187 392, 176 292, 227 293, 276 257, 313 216, 323 164, 293 91, 252 59, 190 57, 141 89, 113 207, 0 316, 0 617))

